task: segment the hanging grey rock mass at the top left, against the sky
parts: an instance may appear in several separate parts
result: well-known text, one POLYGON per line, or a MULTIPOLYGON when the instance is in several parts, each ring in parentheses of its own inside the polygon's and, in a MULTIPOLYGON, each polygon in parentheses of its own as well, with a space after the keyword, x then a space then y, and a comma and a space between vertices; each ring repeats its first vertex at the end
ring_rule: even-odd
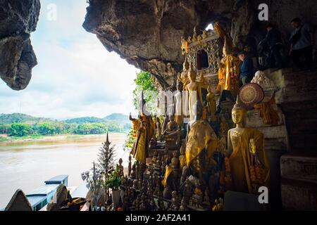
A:
POLYGON ((0 0, 0 77, 14 90, 26 88, 37 65, 30 33, 39 9, 39 0, 0 0))

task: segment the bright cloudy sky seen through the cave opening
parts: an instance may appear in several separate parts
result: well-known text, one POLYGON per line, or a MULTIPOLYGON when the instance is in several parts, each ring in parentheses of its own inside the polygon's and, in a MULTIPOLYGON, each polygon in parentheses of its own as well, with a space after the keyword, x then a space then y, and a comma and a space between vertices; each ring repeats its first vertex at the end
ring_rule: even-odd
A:
POLYGON ((37 30, 31 34, 38 65, 23 91, 0 80, 0 114, 63 120, 135 113, 132 91, 139 70, 85 31, 87 6, 86 0, 41 0, 37 30))

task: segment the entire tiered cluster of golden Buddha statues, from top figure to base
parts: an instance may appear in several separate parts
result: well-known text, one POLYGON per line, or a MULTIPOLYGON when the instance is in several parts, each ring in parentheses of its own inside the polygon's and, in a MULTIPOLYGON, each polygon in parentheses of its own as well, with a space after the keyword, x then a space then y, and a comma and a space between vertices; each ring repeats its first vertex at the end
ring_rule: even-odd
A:
MULTIPOLYGON (((221 34, 217 25, 215 29, 221 34)), ((224 208, 226 191, 258 194, 260 186, 269 187, 264 136, 244 127, 247 110, 237 95, 239 60, 231 54, 226 34, 223 39, 218 91, 237 96, 231 117, 219 110, 219 95, 186 56, 175 85, 172 113, 164 106, 165 115, 151 117, 144 113, 142 100, 139 117, 130 116, 135 162, 130 155, 122 187, 123 210, 219 211, 224 208)))

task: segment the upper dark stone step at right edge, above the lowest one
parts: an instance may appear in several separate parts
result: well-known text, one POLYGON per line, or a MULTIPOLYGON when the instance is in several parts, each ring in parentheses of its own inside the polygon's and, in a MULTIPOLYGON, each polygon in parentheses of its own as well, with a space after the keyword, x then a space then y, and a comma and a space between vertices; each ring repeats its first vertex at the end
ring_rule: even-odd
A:
POLYGON ((280 158, 282 178, 308 181, 317 186, 317 153, 292 153, 280 158))

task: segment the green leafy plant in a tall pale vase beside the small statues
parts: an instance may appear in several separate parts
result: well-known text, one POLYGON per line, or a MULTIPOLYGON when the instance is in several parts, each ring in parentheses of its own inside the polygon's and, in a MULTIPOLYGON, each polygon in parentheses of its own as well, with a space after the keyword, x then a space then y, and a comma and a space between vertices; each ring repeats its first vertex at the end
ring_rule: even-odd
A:
POLYGON ((113 209, 116 210, 120 203, 120 185, 122 184, 122 179, 119 176, 119 167, 116 166, 116 169, 113 170, 110 174, 108 174, 105 185, 107 188, 111 188, 112 190, 112 202, 113 209))

